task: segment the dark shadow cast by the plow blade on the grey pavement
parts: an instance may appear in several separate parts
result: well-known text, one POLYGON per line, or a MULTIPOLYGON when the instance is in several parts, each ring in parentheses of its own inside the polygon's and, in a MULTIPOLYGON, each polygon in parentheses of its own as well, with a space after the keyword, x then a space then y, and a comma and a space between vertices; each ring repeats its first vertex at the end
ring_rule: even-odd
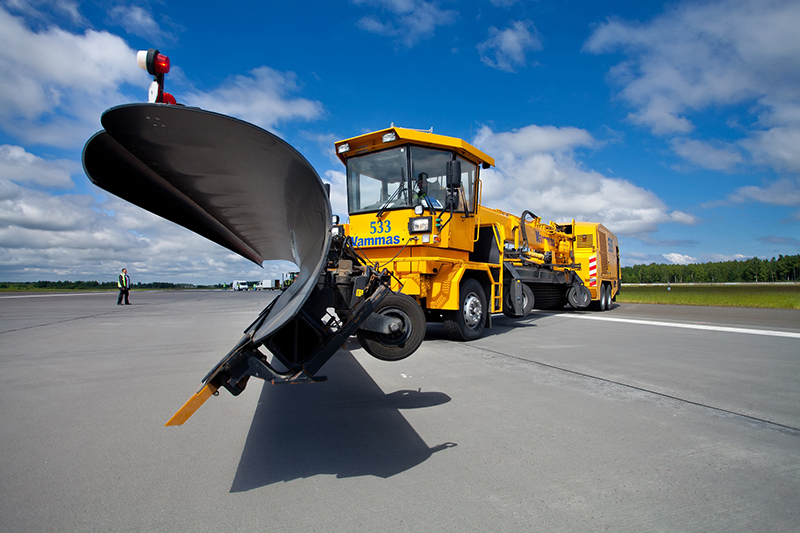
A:
POLYGON ((429 447, 400 412, 447 403, 448 395, 384 394, 347 350, 322 373, 327 383, 264 384, 231 492, 320 474, 388 478, 456 446, 429 447))

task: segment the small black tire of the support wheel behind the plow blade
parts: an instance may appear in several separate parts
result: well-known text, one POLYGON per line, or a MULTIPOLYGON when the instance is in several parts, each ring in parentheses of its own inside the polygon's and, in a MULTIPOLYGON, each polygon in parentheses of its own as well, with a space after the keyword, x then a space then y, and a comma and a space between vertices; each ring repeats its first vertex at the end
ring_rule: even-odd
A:
POLYGON ((425 312, 419 304, 406 294, 389 294, 375 313, 402 320, 403 328, 397 333, 358 330, 356 336, 361 346, 381 361, 400 361, 419 348, 425 338, 425 312))

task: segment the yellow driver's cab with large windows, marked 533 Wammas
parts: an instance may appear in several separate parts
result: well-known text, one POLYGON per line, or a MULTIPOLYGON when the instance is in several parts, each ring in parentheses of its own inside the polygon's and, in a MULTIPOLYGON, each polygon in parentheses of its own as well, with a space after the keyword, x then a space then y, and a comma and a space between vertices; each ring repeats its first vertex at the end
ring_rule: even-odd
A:
POLYGON ((479 172, 494 159, 461 139, 397 127, 340 141, 336 153, 359 247, 473 249, 474 220, 462 219, 476 216, 479 172))

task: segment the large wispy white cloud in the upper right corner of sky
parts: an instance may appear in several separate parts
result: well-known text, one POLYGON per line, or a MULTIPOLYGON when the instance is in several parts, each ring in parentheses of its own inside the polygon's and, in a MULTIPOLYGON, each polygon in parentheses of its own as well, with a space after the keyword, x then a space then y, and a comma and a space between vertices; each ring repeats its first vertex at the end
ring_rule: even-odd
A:
MULTIPOLYGON (((612 18, 584 45, 595 53, 621 51, 610 71, 629 119, 657 135, 686 136, 701 114, 741 113, 723 124, 746 131, 739 146, 755 163, 799 172, 800 3, 791 0, 717 0, 668 5, 648 22, 612 18), (735 110, 734 110, 735 108, 735 110)), ((737 133, 738 130, 734 130, 737 133)), ((737 149, 672 143, 676 153, 711 169, 739 163, 737 149)))

